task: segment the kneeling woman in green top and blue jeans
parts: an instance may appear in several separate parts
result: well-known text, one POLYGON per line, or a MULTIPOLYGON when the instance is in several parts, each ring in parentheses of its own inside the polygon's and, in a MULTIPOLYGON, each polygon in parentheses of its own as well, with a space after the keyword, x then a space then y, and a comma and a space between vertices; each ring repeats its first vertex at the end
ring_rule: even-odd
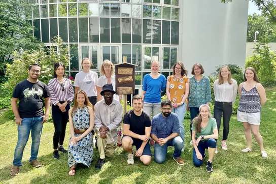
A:
POLYGON ((215 118, 210 114, 210 106, 202 104, 199 106, 199 115, 193 119, 192 141, 194 145, 193 163, 196 167, 203 164, 205 149, 208 149, 208 162, 206 168, 208 172, 213 172, 212 161, 217 148, 218 128, 215 118))

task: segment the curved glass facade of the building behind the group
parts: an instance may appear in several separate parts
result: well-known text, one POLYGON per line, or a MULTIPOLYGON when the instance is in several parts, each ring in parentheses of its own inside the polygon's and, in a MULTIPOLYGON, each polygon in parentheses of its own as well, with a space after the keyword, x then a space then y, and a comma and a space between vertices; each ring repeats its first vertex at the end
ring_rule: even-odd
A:
POLYGON ((150 62, 168 76, 178 60, 179 0, 33 0, 33 35, 50 44, 59 35, 69 46, 72 77, 89 57, 99 72, 103 60, 136 64, 136 92, 150 62))

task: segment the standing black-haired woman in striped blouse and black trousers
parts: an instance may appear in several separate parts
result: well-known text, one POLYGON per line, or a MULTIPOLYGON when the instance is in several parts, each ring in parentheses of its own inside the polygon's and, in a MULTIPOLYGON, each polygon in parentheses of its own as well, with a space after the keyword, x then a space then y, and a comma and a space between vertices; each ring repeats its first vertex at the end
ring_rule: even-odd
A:
POLYGON ((74 99, 74 89, 70 79, 64 78, 65 66, 61 62, 55 63, 54 79, 48 84, 52 103, 52 118, 55 127, 53 136, 53 157, 59 159, 59 152, 67 153, 63 148, 65 129, 68 121, 70 103, 74 99))

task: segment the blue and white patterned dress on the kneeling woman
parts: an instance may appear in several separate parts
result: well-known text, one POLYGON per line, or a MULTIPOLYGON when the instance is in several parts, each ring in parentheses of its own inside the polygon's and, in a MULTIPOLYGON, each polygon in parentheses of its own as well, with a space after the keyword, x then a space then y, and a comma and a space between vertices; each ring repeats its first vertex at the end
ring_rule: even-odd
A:
MULTIPOLYGON (((90 116, 87 106, 78 107, 72 114, 74 128, 78 130, 89 128, 90 116)), ((76 134, 78 137, 80 134, 76 134)), ((70 138, 71 140, 71 138, 70 138)), ((69 142, 70 142, 69 140, 69 142)), ((68 148, 68 164, 69 167, 82 163, 87 167, 90 166, 93 161, 93 136, 92 132, 89 132, 85 137, 78 141, 77 145, 69 145, 68 148)))

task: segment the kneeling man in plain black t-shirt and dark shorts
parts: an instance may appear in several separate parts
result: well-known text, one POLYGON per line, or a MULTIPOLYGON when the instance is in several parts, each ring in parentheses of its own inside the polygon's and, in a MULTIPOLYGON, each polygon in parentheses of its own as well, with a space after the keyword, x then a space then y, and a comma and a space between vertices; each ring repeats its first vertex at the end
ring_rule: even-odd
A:
POLYGON ((134 164, 132 146, 136 146, 136 157, 144 165, 151 162, 151 148, 149 137, 151 133, 151 118, 142 110, 143 101, 141 95, 135 95, 132 98, 133 109, 124 115, 122 147, 128 153, 128 164, 134 164))

